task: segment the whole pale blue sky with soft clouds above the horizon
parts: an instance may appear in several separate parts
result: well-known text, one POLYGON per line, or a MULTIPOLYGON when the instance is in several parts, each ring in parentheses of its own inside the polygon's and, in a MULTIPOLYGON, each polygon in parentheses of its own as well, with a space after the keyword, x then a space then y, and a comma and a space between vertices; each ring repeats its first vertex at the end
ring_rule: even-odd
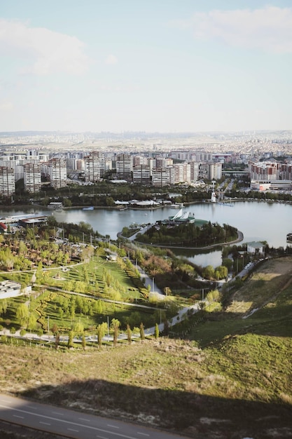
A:
POLYGON ((0 132, 292 129, 291 0, 0 0, 0 132))

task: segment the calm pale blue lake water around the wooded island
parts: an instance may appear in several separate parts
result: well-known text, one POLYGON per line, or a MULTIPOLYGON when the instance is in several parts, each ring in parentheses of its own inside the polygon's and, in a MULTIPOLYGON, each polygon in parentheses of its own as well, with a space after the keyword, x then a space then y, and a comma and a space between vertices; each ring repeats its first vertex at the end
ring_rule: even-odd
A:
MULTIPOLYGON (((22 215, 36 210, 40 215, 52 215, 52 210, 30 206, 27 209, 10 210, 0 209, 0 216, 22 215)), ((284 203, 258 203, 253 201, 238 201, 230 205, 200 203, 193 204, 183 211, 189 211, 197 219, 218 222, 218 224, 230 224, 237 227, 244 234, 242 243, 250 241, 267 241, 270 247, 286 248, 286 234, 292 232, 292 205, 284 203)), ((54 215, 59 222, 87 222, 92 229, 99 234, 109 235, 115 240, 119 231, 130 224, 147 224, 166 219, 175 215, 178 210, 174 208, 160 208, 156 210, 116 210, 116 209, 95 209, 82 210, 71 208, 55 212, 54 215)), ((221 250, 212 250, 196 254, 193 250, 177 250, 177 255, 184 255, 188 259, 202 266, 221 264, 221 250)))

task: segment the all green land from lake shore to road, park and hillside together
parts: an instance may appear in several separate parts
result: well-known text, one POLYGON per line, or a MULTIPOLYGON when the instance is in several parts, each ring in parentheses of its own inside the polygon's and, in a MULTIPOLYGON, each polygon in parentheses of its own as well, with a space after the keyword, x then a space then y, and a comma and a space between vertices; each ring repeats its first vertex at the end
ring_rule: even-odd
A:
POLYGON ((227 245, 222 266, 203 269, 87 224, 1 235, 1 282, 29 288, 0 301, 2 391, 193 438, 284 438, 291 256, 271 253, 239 278, 239 252, 227 245))

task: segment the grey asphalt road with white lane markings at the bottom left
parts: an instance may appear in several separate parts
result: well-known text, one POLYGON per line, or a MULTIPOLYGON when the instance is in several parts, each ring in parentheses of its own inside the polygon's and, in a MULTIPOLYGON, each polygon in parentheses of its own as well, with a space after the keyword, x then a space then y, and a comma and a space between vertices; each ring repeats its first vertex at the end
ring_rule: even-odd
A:
POLYGON ((0 419, 74 439, 179 439, 153 428, 0 394, 0 419))

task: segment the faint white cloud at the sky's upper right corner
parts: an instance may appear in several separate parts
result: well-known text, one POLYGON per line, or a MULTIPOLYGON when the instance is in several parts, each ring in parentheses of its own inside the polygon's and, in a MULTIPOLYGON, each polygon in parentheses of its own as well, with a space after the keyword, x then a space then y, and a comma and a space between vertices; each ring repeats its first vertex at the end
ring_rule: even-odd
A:
POLYGON ((274 53, 292 52, 292 8, 214 10, 195 13, 176 25, 192 29, 197 39, 221 40, 229 46, 274 53))

